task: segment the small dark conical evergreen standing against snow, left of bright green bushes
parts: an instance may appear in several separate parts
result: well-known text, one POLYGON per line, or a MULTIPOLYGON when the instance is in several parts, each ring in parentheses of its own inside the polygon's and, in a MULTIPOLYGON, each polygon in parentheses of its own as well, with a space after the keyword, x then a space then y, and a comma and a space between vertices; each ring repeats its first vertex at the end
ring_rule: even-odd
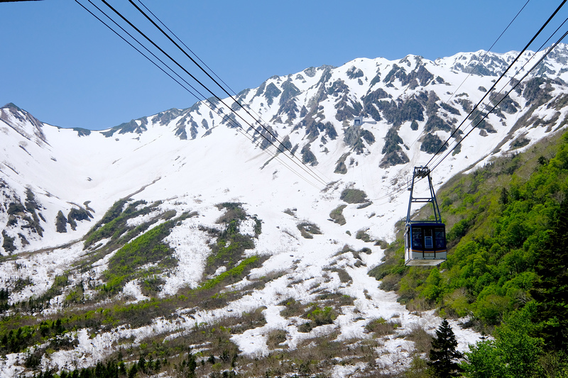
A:
POLYGON ((430 366, 437 377, 459 377, 461 368, 457 365, 457 360, 464 357, 461 352, 456 350, 457 340, 452 327, 446 319, 436 330, 436 337, 432 340, 430 350, 430 366))

